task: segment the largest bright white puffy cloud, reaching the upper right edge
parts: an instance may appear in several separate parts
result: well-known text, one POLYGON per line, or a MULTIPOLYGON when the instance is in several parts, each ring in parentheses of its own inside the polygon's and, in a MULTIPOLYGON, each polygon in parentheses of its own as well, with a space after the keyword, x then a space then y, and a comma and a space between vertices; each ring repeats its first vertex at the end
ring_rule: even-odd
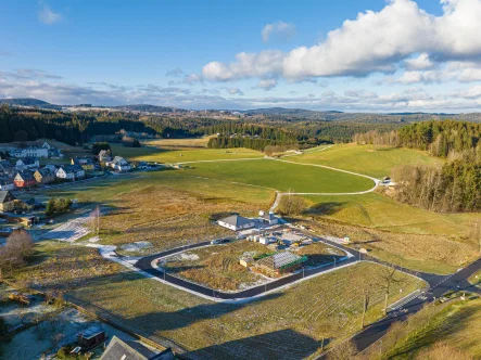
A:
POLYGON ((421 70, 436 63, 479 62, 481 0, 441 0, 441 4, 443 13, 435 16, 413 0, 391 0, 379 12, 366 11, 345 21, 315 46, 288 53, 240 53, 229 64, 208 63, 203 74, 216 81, 266 76, 305 80, 389 74, 403 64, 408 70, 421 70))

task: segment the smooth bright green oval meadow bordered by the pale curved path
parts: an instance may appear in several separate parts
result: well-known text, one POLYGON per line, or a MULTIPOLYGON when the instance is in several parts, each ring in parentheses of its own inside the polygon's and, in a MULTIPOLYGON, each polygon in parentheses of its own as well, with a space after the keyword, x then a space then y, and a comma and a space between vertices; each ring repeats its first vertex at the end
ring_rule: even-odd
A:
POLYGON ((249 183, 283 192, 342 193, 371 189, 369 179, 319 167, 270 159, 199 163, 188 169, 199 177, 249 183))

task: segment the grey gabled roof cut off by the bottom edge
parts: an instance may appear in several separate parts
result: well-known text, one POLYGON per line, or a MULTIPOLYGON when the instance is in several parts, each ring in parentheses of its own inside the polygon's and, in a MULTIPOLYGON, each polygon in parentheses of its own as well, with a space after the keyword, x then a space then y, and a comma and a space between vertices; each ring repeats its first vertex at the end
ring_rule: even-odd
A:
POLYGON ((174 353, 168 348, 155 353, 142 344, 112 337, 100 360, 174 360, 174 353))

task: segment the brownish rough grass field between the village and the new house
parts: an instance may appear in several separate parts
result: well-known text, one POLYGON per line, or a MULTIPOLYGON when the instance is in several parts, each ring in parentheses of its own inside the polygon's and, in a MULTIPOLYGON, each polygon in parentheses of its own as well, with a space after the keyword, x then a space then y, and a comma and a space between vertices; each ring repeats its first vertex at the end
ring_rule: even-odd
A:
POLYGON ((233 210, 255 215, 260 209, 268 209, 274 201, 271 191, 227 187, 191 178, 186 172, 143 172, 63 188, 49 194, 109 206, 109 214, 100 221, 102 243, 123 245, 147 241, 153 245, 151 252, 230 234, 211 223, 211 215, 233 210))

